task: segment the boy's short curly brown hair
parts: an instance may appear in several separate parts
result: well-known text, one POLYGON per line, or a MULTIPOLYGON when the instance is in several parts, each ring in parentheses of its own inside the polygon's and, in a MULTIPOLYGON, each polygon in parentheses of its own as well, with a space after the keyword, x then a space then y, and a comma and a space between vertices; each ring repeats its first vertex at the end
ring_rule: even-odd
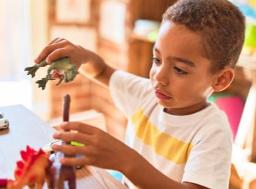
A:
POLYGON ((162 16, 185 25, 202 37, 202 54, 212 63, 212 71, 234 67, 245 38, 245 17, 228 0, 180 0, 162 16))

